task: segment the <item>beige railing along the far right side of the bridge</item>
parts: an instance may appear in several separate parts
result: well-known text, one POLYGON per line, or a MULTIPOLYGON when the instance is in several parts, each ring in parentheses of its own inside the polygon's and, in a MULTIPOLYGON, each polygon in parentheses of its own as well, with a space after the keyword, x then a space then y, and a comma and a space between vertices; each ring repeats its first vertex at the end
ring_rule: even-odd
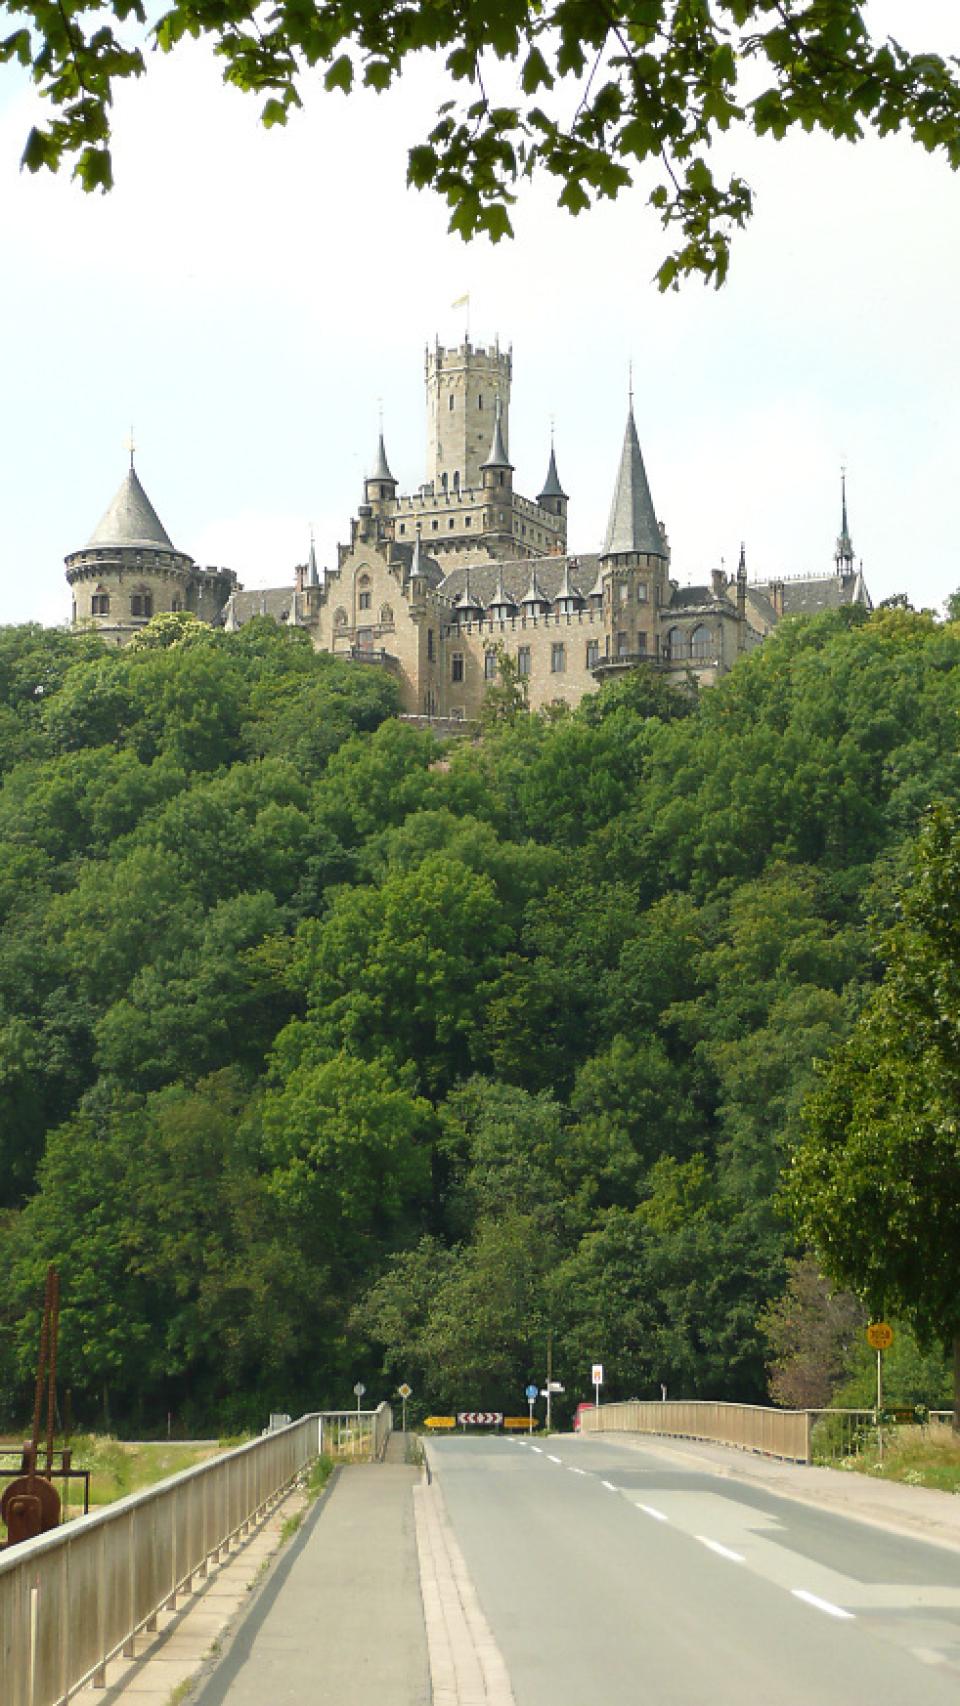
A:
POLYGON ((766 1409, 762 1404, 684 1402, 600 1404, 580 1413, 583 1433, 660 1433, 679 1440, 711 1440, 766 1457, 812 1460, 813 1416, 805 1409, 766 1409))

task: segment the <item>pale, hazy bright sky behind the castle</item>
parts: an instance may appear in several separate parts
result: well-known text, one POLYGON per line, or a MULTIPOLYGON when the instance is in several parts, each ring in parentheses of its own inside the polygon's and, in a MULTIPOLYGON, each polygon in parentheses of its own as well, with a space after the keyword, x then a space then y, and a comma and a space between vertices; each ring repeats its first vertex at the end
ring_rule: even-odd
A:
MULTIPOLYGON (((875 29, 960 51, 955 0, 868 0, 875 29), (907 14, 907 17, 904 17, 907 14)), ((513 346, 515 486, 551 421, 571 549, 599 549, 633 362, 672 575, 827 573, 849 524, 875 601, 960 587, 960 176, 907 138, 730 150, 755 193, 721 292, 660 295, 646 189, 571 218, 552 186, 496 247, 447 234, 406 150, 447 89, 425 61, 385 96, 324 94, 264 131, 210 53, 150 56, 116 102, 109 196, 19 155, 36 96, 0 68, 0 624, 65 623, 63 558, 94 531, 133 426, 167 532, 246 587, 292 582, 310 527, 336 563, 382 409, 402 491, 425 478, 425 345, 513 346)), ((728 147, 725 143, 725 147, 728 147)))

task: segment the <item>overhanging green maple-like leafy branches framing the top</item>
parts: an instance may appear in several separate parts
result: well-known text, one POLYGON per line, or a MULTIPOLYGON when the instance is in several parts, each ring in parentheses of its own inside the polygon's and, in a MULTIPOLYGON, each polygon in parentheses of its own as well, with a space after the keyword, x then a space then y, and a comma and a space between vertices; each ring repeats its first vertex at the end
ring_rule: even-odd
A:
POLYGON ((310 73, 327 90, 385 90, 431 53, 450 94, 411 148, 408 181, 447 200, 450 227, 510 234, 530 176, 558 179, 571 213, 639 181, 674 239, 662 288, 726 275, 732 234, 752 212, 745 177, 711 165, 726 131, 905 130, 960 164, 958 61, 875 38, 863 0, 275 0, 266 12, 174 0, 150 26, 143 0, 2 9, 14 29, 0 58, 27 67, 55 107, 26 142, 31 171, 73 159, 84 188, 109 188, 113 94, 143 73, 147 46, 208 39, 225 80, 264 97, 264 125, 309 99, 310 73))

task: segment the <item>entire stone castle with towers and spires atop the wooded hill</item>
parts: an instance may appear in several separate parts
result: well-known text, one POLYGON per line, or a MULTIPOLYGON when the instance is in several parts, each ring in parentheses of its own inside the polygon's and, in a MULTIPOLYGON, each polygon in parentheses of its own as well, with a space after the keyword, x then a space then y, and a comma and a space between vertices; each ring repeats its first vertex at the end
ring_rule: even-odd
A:
POLYGON ((131 466, 84 549, 67 558, 73 624, 123 645, 152 614, 193 611, 228 630, 252 616, 304 628, 317 650, 390 670, 408 715, 474 720, 512 660, 532 710, 576 705, 602 681, 653 664, 667 679, 709 684, 793 612, 865 604, 842 491, 834 572, 709 583, 670 578, 636 433, 633 397, 597 553, 568 553, 564 493, 551 444, 537 498, 522 496, 510 461, 513 360, 498 345, 440 343, 426 351, 426 479, 397 488, 380 433, 363 502, 338 565, 309 561, 293 585, 244 592, 223 568, 177 551, 131 466))

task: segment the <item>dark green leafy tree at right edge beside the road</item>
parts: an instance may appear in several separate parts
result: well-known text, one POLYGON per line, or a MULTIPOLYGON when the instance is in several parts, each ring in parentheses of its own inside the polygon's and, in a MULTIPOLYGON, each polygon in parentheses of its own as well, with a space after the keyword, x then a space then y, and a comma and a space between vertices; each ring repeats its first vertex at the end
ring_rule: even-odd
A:
MULTIPOLYGON (((882 984, 807 1107, 786 1203, 824 1271, 873 1317, 951 1343, 960 1406, 960 819, 936 807, 917 841, 882 984)), ((960 1413, 957 1418, 960 1426, 960 1413)))

